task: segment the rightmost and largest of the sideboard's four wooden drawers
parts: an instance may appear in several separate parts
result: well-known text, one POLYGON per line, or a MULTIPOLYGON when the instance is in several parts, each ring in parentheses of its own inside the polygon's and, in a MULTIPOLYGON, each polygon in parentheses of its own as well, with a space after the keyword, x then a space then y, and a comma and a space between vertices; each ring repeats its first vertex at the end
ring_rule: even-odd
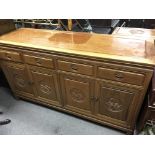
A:
POLYGON ((130 71, 98 67, 97 77, 133 85, 144 85, 145 75, 130 71))

